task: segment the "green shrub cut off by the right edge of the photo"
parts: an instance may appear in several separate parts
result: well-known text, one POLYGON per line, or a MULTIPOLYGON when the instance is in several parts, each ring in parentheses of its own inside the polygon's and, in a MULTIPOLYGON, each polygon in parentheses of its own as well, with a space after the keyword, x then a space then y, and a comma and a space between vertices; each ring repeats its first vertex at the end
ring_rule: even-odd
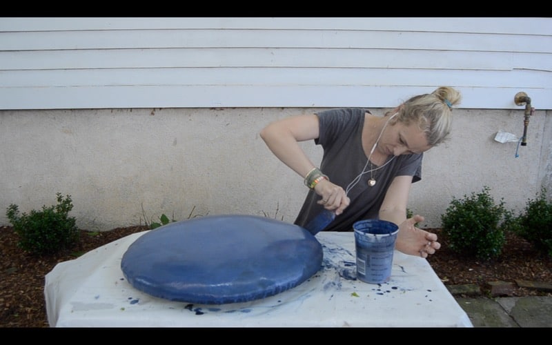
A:
POLYGON ((513 217, 510 229, 535 249, 552 257, 552 202, 546 201, 546 188, 529 199, 522 213, 513 217))

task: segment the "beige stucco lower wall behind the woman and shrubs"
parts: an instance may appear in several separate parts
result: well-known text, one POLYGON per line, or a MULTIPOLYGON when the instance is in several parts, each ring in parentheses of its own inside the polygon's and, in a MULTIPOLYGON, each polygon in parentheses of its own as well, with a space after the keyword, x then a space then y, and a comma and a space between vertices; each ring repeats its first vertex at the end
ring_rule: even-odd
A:
MULTIPOLYGON (((537 105, 535 105, 537 106, 537 105)), ((280 117, 315 108, 3 110, 0 111, 0 224, 71 195, 70 215, 87 230, 174 219, 248 214, 295 219, 306 187, 268 150, 259 130, 280 117)), ((381 109, 373 109, 377 115, 381 109)), ((440 226, 451 197, 489 186, 521 209, 541 186, 550 189, 551 121, 535 111, 527 146, 500 144, 498 130, 518 137, 523 110, 455 109, 451 139, 426 152, 422 181, 409 208, 440 226)), ((318 162, 321 149, 302 143, 318 162)))

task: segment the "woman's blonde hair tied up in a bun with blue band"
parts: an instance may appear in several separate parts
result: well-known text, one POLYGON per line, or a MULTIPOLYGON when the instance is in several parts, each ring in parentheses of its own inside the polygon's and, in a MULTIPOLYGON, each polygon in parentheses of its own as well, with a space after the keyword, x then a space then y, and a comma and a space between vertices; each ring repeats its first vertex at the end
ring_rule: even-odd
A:
POLYGON ((445 141, 451 132, 453 106, 460 103, 462 95, 450 86, 440 86, 433 92, 411 97, 397 110, 395 121, 408 126, 417 123, 426 133, 430 146, 445 141))

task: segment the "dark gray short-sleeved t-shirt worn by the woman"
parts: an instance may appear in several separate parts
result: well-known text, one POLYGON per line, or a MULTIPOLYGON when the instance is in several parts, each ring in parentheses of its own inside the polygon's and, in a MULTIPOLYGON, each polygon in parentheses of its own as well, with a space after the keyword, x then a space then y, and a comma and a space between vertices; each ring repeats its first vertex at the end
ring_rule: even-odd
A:
MULTIPOLYGON (((317 113, 319 137, 315 139, 315 144, 322 145, 324 149, 320 170, 328 175, 330 181, 345 190, 366 164, 366 154, 362 149, 362 127, 366 112, 368 110, 361 108, 342 108, 317 113)), ((349 190, 351 204, 344 213, 335 217, 324 231, 352 231, 355 221, 377 219, 386 190, 394 177, 412 176, 413 183, 422 179, 422 157, 423 153, 399 155, 390 162, 388 161, 393 156, 388 157, 388 164, 373 172, 373 177, 377 181, 373 187, 368 186, 370 173, 362 175, 357 184, 349 190)), ((368 164, 366 170, 370 170, 370 167, 368 164)), ((324 207, 316 203, 319 199, 314 190, 309 190, 294 224, 305 226, 322 212, 324 207)))

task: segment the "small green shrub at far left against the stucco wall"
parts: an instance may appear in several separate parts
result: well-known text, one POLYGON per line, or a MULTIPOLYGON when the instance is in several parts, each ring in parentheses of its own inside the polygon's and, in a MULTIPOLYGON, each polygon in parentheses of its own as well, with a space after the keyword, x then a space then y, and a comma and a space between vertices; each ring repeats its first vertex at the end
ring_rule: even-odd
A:
POLYGON ((19 207, 10 204, 6 216, 13 225, 14 232, 19 235, 19 248, 32 254, 46 255, 70 248, 80 236, 75 226, 75 218, 68 217, 72 210, 70 195, 64 199, 57 193, 57 206, 43 206, 41 211, 31 210, 27 215, 19 215, 19 207))

